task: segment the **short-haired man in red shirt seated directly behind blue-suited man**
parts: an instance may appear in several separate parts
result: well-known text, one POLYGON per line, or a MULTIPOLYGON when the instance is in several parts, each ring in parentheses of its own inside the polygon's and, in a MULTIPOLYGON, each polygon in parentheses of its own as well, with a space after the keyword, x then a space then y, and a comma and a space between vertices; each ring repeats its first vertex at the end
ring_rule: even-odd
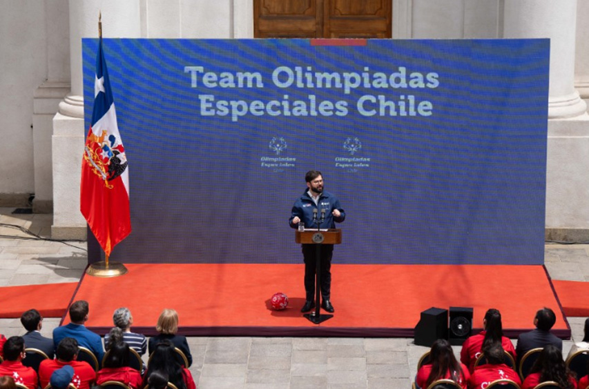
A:
POLYGON ((45 388, 49 383, 53 372, 61 369, 66 365, 72 366, 74 375, 72 383, 78 389, 90 389, 90 383, 96 379, 96 372, 84 361, 76 361, 78 356, 78 342, 74 338, 61 339, 57 350, 55 350, 56 359, 46 359, 39 365, 39 381, 41 388, 45 388))

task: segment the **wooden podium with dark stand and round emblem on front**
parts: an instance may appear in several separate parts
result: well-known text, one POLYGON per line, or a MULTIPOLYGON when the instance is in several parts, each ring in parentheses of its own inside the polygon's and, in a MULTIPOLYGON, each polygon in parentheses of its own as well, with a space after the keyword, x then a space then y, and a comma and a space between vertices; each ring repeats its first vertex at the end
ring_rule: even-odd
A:
POLYGON ((305 316, 309 321, 315 324, 322 323, 334 317, 334 315, 320 315, 320 293, 321 293, 321 245, 322 244, 340 244, 342 243, 342 230, 339 228, 329 228, 324 230, 305 229, 305 231, 296 230, 295 242, 302 244, 314 244, 316 246, 316 269, 315 269, 315 312, 306 313, 305 316))

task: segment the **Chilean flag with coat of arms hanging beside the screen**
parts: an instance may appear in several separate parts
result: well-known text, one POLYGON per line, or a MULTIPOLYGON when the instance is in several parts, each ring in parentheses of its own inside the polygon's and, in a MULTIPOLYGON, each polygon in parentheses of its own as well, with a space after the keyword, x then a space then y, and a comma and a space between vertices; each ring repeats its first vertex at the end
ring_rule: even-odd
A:
POLYGON ((117 126, 102 39, 96 58, 92 124, 81 163, 80 210, 106 257, 131 233, 127 158, 117 126))

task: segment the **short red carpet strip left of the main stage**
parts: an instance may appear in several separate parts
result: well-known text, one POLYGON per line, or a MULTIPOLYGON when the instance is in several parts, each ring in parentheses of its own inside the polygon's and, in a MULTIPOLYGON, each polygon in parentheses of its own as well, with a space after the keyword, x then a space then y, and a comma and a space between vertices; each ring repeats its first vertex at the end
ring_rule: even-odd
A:
POLYGON ((61 317, 70 305, 78 283, 8 286, 0 288, 0 318, 21 317, 35 308, 45 317, 61 317))

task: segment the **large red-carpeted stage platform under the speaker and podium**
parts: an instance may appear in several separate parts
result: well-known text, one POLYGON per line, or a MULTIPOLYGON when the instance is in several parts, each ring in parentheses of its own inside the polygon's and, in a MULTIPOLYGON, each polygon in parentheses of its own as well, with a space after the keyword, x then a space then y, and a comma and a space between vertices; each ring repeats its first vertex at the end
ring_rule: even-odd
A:
MULTIPOLYGON (((554 332, 570 337, 543 266, 333 266, 335 316, 316 325, 302 317, 303 265, 128 264, 122 277, 85 275, 75 299, 90 303, 87 326, 106 332, 113 311, 127 306, 134 330, 155 332, 163 308, 175 308, 184 335, 413 337, 420 313, 432 306, 474 308, 474 327, 487 308, 501 310, 505 335, 533 327, 536 310, 557 312, 554 332), (284 311, 269 308, 275 292, 284 311)), ((68 321, 68 318, 65 318, 68 321)))

